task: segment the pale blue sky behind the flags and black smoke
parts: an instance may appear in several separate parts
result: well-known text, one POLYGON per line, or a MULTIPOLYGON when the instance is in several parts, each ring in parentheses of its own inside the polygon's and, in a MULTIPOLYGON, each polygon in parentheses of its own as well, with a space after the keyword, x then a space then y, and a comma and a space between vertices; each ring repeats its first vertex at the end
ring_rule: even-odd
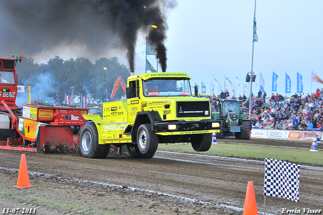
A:
MULTIPOLYGON (((196 82, 200 87, 203 81, 206 94, 210 94, 213 76, 224 88, 225 75, 233 84, 237 75, 242 86, 247 72, 251 71, 254 4, 254 0, 177 0, 176 7, 166 13, 169 26, 165 41, 167 72, 187 72, 192 77, 191 84, 196 82)), ((277 93, 283 96, 286 95, 285 73, 291 79, 291 94, 287 96, 297 90, 297 72, 303 76, 305 94, 323 88, 323 84, 310 81, 312 71, 323 79, 322 12, 322 0, 257 0, 258 41, 254 42, 253 53, 253 72, 256 74, 256 82, 252 86, 254 94, 259 91, 260 72, 267 96, 272 94, 273 71, 278 75, 277 93)), ((136 45, 135 74, 145 72, 144 36, 139 36, 136 45)), ((40 54, 33 53, 32 57, 37 63, 46 63, 56 55, 64 60, 72 57, 94 60, 117 56, 129 67, 126 52, 120 50, 102 56, 88 56, 84 55, 82 47, 64 47, 53 52, 43 50, 40 54)), ((151 64, 156 65, 156 61, 151 60, 151 64)), ((229 85, 228 90, 231 91, 229 85)), ((218 88, 214 91, 217 94, 218 88)), ((237 84, 236 96, 242 94, 243 89, 239 89, 237 84)))

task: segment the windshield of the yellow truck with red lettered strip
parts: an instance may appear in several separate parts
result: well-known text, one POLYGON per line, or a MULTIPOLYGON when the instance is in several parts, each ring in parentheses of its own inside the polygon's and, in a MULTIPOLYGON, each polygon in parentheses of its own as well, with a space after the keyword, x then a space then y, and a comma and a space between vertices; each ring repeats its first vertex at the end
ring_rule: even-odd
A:
POLYGON ((143 80, 143 95, 150 96, 191 96, 188 79, 143 80))

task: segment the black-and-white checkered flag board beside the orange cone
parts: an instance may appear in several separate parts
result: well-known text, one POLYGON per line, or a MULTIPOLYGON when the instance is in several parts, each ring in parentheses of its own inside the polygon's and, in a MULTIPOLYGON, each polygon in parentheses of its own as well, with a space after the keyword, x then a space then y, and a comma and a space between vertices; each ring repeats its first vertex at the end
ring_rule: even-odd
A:
POLYGON ((263 195, 298 202, 299 165, 265 158, 263 195))

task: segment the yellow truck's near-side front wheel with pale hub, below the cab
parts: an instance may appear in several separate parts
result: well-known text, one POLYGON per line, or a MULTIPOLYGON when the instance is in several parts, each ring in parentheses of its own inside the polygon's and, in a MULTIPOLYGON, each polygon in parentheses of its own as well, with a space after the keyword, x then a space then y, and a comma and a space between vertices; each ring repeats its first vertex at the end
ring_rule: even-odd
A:
POLYGON ((141 154, 155 153, 158 147, 158 137, 150 129, 150 124, 142 124, 137 131, 137 145, 141 154))

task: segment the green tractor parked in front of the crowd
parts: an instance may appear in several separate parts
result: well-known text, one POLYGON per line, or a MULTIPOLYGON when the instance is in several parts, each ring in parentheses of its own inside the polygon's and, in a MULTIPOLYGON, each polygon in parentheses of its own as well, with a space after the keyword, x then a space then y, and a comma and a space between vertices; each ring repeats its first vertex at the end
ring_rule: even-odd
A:
POLYGON ((240 112, 240 103, 236 99, 224 99, 218 101, 218 112, 212 113, 213 119, 221 120, 220 133, 217 138, 223 139, 234 133, 236 139, 249 140, 251 133, 251 120, 245 119, 243 112, 240 112))

